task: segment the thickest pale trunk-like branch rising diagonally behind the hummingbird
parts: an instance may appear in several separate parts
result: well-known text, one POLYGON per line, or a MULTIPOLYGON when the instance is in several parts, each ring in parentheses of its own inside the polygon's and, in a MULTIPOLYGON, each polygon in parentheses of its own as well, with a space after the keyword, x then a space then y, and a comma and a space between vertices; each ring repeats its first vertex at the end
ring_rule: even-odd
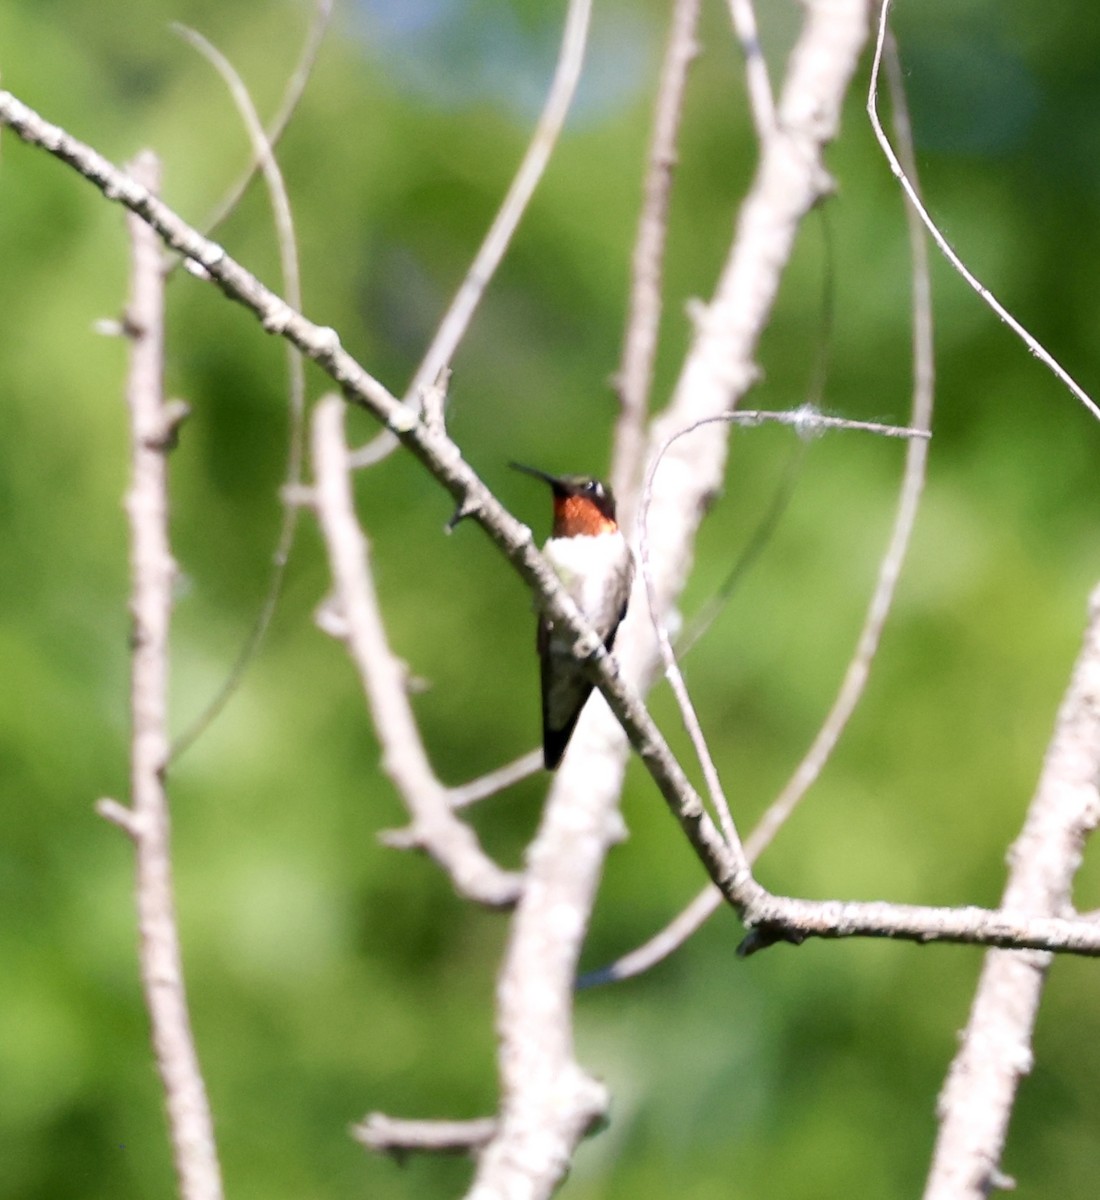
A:
MULTIPOLYGON (((862 46, 862 0, 817 0, 792 56, 781 131, 765 145, 757 180, 743 209, 732 251, 714 302, 699 323, 663 427, 650 445, 692 420, 731 407, 753 378, 751 356, 770 311, 782 266, 801 216, 821 194, 821 151, 832 136, 840 103, 862 46)), ((661 422, 659 422, 661 425, 661 422)), ((705 439, 697 438, 696 442, 705 439)), ((725 436, 705 440, 690 461, 666 472, 655 499, 661 564, 659 611, 679 595, 705 499, 721 482, 725 436)), ((630 497, 624 515, 629 518, 630 497)), ((651 529, 653 534, 653 529, 651 529)), ((638 580, 633 617, 627 614, 618 646, 623 673, 647 682, 655 668, 651 634, 644 619, 638 580)), ((540 595, 545 595, 540 588, 540 595)), ((617 673, 618 677, 618 673, 617 673)), ((600 684, 621 721, 620 696, 600 684)), ((651 744, 630 734, 654 779, 671 766, 648 756, 651 744)), ((590 707, 573 736, 531 846, 524 895, 512 918, 509 949, 498 983, 500 1128, 486 1147, 470 1196, 474 1200, 535 1200, 560 1181, 590 1114, 603 1103, 602 1088, 573 1061, 571 1004, 577 959, 607 847, 619 836, 624 748, 621 734, 590 707), (543 1032, 545 1031, 545 1032, 543 1032), (560 1097, 560 1103, 558 1098, 560 1097)), ((677 764, 672 804, 677 820, 708 872, 727 895, 752 893, 747 864, 727 846, 677 764), (689 798, 690 793, 690 798, 689 798)))

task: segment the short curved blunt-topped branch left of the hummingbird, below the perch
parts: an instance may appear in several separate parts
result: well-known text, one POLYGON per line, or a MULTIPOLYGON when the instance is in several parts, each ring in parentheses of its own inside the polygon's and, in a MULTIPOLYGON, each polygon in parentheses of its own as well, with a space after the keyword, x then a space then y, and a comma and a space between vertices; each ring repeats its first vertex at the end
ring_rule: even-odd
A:
POLYGON ((443 866, 459 894, 492 907, 515 904, 522 878, 501 870, 452 812, 428 763, 403 665, 386 641, 371 577, 369 547, 355 518, 343 436, 343 404, 326 396, 313 418, 317 512, 336 586, 343 637, 359 670, 383 749, 383 767, 413 814, 408 844, 443 866))

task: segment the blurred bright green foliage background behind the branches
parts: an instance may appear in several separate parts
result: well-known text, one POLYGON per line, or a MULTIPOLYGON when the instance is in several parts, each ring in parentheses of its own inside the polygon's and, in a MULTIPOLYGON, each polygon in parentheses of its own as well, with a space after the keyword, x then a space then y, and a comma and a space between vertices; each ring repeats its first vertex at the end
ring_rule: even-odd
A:
MULTIPOLYGON (((779 66, 793 4, 762 5, 779 66)), ((560 22, 534 4, 345 7, 281 158, 306 307, 401 390, 529 133, 560 22), (386 11, 389 10, 389 11, 386 11), (420 24, 417 25, 417 20, 420 24)), ((507 472, 602 470, 641 154, 663 6, 597 6, 569 136, 457 361, 451 430, 540 533, 545 499, 507 472)), ((166 197, 203 215, 246 140, 212 71, 167 29, 200 29, 264 112, 305 2, 7 0, 4 85, 115 161, 164 158, 166 197)), ((901 4, 931 206, 976 272, 1094 392, 1100 26, 1064 0, 901 4)), ((684 132, 656 394, 684 304, 713 287, 755 161, 722 5, 708 6, 684 132)), ((903 420, 909 392, 900 203, 862 113, 830 152, 836 318, 825 404, 903 420)), ((224 241, 277 280, 259 191, 224 241)), ((0 1198, 172 1193, 139 1001, 131 853, 92 812, 126 798, 126 240, 116 208, 5 136, 0 166, 0 1198)), ((762 348, 755 407, 805 398, 822 325, 821 224, 807 222, 762 348)), ((877 673, 805 808, 762 862, 812 896, 992 904, 1100 576, 1100 430, 936 262, 939 394, 928 488, 877 673)), ((174 724, 217 689, 264 593, 285 454, 283 349, 180 275, 169 380, 194 409, 173 457, 182 570, 174 724)), ((323 380, 311 372, 312 394, 323 380)), ((353 419, 356 437, 371 432, 353 419)), ((699 542, 695 611, 767 510, 791 454, 735 437, 699 542)), ((687 660, 747 827, 831 702, 891 518, 898 443, 811 448, 791 509, 687 660)), ((427 680, 433 761, 461 781, 537 736, 523 588, 402 455, 357 481, 393 644, 427 680)), ((325 569, 309 520, 275 628, 240 692, 174 769, 187 983, 232 1196, 449 1196, 462 1162, 404 1169, 347 1135, 371 1109, 471 1116, 495 1100, 492 988, 505 920, 455 900, 426 860, 381 848, 401 823, 342 649, 313 626, 325 569)), ((654 710, 678 746, 668 696, 654 710)), ((517 863, 539 778, 483 805, 517 863)), ((635 768, 585 965, 659 928, 702 875, 635 768)), ((1078 901, 1098 904, 1095 872, 1078 901)), ((933 1106, 980 954, 871 943, 749 962, 720 914, 645 979, 578 1001, 584 1064, 614 1094, 564 1195, 889 1198, 919 1193, 933 1106)), ((1096 967, 1059 962, 1005 1169, 1017 1195, 1087 1196, 1100 1169, 1096 967)))

